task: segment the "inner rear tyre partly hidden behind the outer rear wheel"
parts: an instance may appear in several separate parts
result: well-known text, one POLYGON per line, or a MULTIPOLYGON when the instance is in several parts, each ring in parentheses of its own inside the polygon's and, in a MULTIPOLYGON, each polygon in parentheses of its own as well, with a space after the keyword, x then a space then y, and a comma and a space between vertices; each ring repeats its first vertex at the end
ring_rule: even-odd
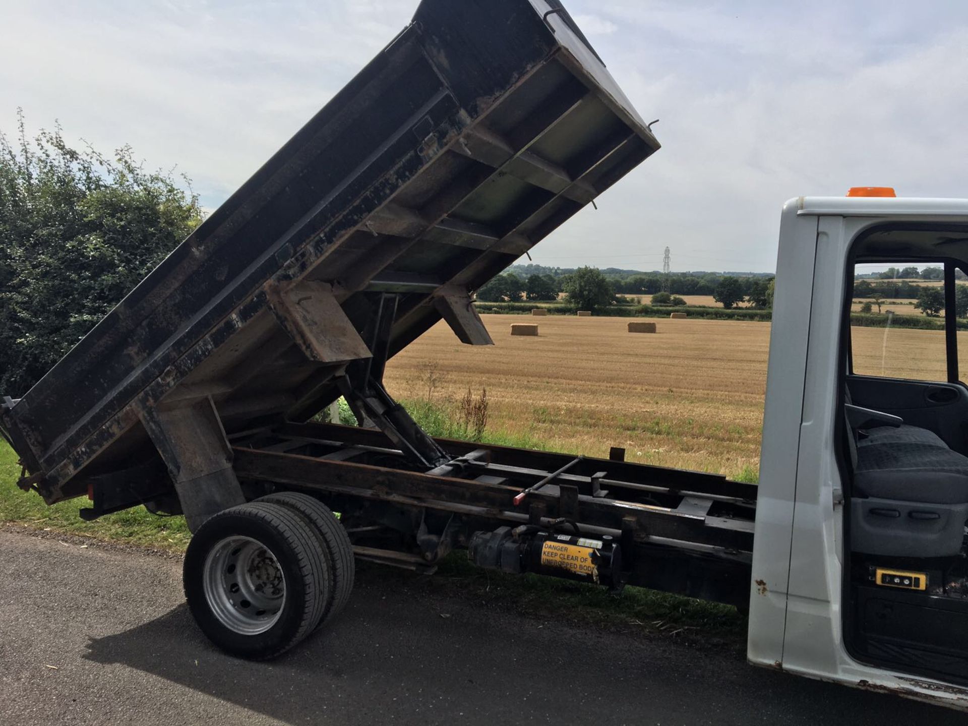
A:
POLYGON ((353 590, 356 576, 356 560, 347 530, 333 514, 333 511, 318 499, 296 492, 279 492, 257 499, 283 506, 298 512, 313 526, 319 537, 319 544, 326 553, 329 565, 330 596, 326 603, 319 626, 339 615, 347 605, 353 590))

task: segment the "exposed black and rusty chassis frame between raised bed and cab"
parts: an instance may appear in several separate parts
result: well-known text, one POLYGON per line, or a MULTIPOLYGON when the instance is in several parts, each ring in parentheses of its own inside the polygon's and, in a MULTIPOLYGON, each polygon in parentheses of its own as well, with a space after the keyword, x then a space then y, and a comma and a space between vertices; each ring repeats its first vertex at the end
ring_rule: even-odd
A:
POLYGON ((613 589, 748 605, 755 485, 627 463, 618 448, 605 460, 434 439, 454 458, 421 469, 374 429, 287 424, 229 439, 244 487, 304 492, 344 512, 361 559, 432 571, 475 531, 531 526, 620 541, 613 589), (368 546, 387 529, 409 547, 368 546))

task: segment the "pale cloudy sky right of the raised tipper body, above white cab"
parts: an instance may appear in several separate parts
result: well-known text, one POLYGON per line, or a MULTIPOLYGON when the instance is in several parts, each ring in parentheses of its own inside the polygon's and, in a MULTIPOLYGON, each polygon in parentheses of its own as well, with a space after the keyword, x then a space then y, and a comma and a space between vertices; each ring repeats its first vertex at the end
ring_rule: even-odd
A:
POLYGON ((789 197, 867 184, 966 196, 964 17, 871 30, 832 5, 796 20, 733 7, 595 5, 620 23, 596 49, 640 113, 661 119, 663 148, 536 262, 654 269, 669 245, 673 269, 771 270, 789 197))

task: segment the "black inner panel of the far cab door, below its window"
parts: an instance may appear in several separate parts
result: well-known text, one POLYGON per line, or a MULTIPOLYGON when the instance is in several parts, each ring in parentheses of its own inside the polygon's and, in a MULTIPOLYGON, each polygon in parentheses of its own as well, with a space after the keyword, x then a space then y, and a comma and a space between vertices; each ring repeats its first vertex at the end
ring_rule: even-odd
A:
POLYGON ((968 454, 968 388, 963 383, 851 376, 847 386, 855 405, 900 416, 968 454))

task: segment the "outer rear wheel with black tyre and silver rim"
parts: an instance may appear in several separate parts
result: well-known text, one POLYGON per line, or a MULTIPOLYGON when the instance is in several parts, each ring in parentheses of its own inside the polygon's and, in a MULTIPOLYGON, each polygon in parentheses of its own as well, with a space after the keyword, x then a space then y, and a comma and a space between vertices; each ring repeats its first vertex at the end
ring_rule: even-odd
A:
POLYGON ((330 599, 318 535, 280 504, 231 507, 198 528, 183 583, 198 627, 227 653, 273 658, 313 632, 330 599))

